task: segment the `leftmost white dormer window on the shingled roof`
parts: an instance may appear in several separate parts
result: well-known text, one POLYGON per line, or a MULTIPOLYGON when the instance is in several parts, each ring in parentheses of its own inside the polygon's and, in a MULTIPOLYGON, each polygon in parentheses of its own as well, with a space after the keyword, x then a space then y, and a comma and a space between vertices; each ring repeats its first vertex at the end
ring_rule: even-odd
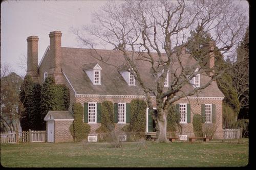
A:
POLYGON ((93 85, 101 84, 101 67, 98 63, 90 63, 83 66, 82 70, 86 72, 87 76, 93 83, 93 85))

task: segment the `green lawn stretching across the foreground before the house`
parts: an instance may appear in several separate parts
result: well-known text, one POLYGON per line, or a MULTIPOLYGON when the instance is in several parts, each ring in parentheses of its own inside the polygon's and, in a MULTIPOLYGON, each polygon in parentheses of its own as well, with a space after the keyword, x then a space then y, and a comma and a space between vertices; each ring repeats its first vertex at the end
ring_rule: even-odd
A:
POLYGON ((243 143, 125 142, 122 148, 83 142, 1 144, 1 164, 5 167, 216 167, 247 163, 248 139, 243 143))

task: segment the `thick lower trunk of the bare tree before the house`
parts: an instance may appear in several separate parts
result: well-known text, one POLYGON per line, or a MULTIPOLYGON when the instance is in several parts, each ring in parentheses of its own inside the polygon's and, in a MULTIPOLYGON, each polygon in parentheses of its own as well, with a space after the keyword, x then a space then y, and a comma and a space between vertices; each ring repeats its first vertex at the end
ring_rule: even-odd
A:
POLYGON ((167 115, 166 114, 161 114, 157 116, 157 123, 156 123, 156 128, 157 128, 157 142, 169 142, 169 140, 166 137, 166 126, 167 126, 167 115))

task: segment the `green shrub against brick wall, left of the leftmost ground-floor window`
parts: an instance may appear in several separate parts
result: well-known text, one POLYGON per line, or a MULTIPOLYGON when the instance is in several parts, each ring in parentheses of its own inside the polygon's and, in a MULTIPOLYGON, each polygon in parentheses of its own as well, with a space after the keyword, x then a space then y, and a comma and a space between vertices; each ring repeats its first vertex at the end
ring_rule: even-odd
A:
POLYGON ((91 127, 82 122, 83 107, 80 103, 74 103, 72 110, 74 114, 74 121, 69 129, 74 141, 81 141, 82 139, 87 138, 91 127))

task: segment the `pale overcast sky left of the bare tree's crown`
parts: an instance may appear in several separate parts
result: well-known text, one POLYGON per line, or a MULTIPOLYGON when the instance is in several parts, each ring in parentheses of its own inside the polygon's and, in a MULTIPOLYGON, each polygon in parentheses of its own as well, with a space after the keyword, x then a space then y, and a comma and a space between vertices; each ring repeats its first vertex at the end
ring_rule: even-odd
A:
MULTIPOLYGON (((4 1, 1 4, 1 64, 19 75, 19 58, 27 57, 27 37, 38 36, 38 64, 50 43, 49 33, 61 31, 61 46, 80 47, 70 29, 91 22, 91 14, 106 1, 4 1)), ((248 8, 248 3, 242 1, 248 8)))

